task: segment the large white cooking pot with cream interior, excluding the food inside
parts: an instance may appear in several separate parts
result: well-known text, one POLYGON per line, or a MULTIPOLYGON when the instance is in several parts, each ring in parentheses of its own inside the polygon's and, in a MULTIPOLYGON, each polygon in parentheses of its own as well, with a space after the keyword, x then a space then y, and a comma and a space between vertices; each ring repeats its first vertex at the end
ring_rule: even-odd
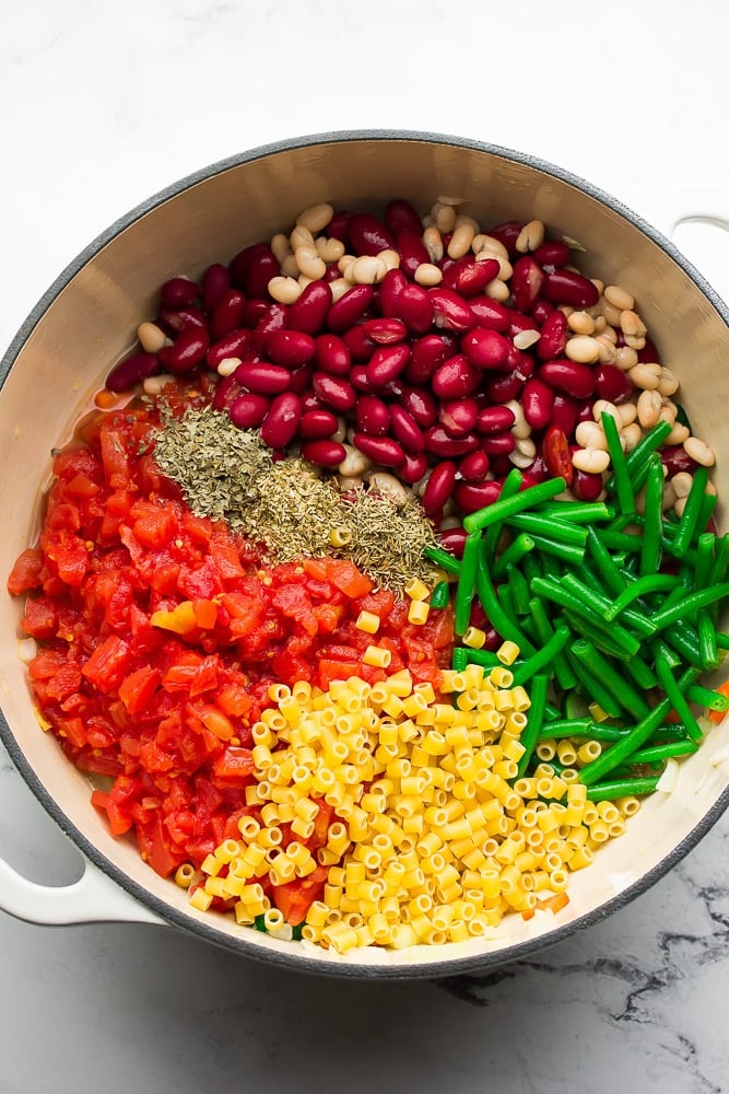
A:
MULTIPOLYGON (((682 381, 695 433, 716 452, 719 497, 728 497, 729 312, 667 238, 607 194, 528 155, 427 133, 333 133, 256 149, 177 183, 109 228, 38 302, 2 363, 0 572, 9 572, 37 533, 51 445, 70 435, 109 365, 132 348, 134 327, 153 313, 161 282, 178 272, 197 277, 322 200, 361 210, 405 197, 425 212, 444 191, 468 199, 484 224, 543 220, 585 247, 588 275, 636 296, 663 363, 682 381)), ((720 525, 724 513, 720 507, 720 525)), ((19 660, 21 605, 2 595, 0 732, 31 789, 86 859, 83 877, 67 888, 32 884, 0 863, 0 906, 33 921, 164 922, 233 952, 318 974, 466 973, 524 957, 625 906, 683 858, 729 804, 729 760, 721 760, 729 753, 727 719, 681 764, 674 790, 646 800, 627 833, 571 877, 569 904, 556 916, 507 917, 491 936, 462 944, 341 957, 277 941, 191 908, 134 846, 109 835, 90 805, 89 782, 38 728, 19 660)))

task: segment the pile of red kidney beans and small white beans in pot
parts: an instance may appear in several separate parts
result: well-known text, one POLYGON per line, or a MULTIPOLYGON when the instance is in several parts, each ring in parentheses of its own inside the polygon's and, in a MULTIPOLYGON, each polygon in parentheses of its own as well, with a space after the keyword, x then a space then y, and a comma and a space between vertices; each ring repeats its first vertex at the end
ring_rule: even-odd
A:
POLYGON ((592 501, 610 463, 602 411, 626 452, 667 420, 666 505, 680 513, 714 456, 680 420, 633 296, 579 272, 541 221, 484 232, 461 205, 440 197, 421 220, 393 200, 380 220, 322 202, 199 282, 172 278, 107 387, 153 394, 212 371, 235 424, 344 488, 413 491, 456 554, 463 516, 513 466, 592 501))

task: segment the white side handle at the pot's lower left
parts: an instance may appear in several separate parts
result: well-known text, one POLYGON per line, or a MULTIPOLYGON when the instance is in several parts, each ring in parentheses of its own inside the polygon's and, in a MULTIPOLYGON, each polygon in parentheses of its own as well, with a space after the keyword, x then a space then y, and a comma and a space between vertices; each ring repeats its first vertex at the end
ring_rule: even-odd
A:
POLYGON ((38 885, 0 859, 0 910, 28 923, 131 922, 166 926, 84 859, 84 872, 71 885, 38 885))

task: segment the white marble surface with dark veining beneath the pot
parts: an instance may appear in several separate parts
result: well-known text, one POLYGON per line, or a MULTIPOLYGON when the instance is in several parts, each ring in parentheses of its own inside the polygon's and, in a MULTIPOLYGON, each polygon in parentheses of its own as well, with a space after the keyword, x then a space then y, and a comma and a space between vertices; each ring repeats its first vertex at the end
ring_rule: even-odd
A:
MULTIPOLYGON (((428 129, 561 163, 658 226, 729 216, 719 0, 5 0, 7 346, 62 267, 169 182, 282 137, 428 129)), ((729 295, 729 247, 680 230, 729 295)), ((0 853, 79 859, 2 754, 0 853)), ((600 927, 473 980, 341 985, 172 929, 0 913, 0 1091, 729 1090, 729 821, 600 927)))

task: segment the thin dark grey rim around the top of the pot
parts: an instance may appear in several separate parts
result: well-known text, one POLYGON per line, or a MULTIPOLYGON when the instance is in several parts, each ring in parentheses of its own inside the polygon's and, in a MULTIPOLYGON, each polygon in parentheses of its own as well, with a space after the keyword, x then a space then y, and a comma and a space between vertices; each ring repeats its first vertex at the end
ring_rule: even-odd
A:
MULTIPOLYGON (((691 278, 701 292, 707 298, 709 303, 719 313, 724 323, 729 327, 729 307, 718 295, 715 289, 706 281, 702 274, 689 261, 687 258, 675 247, 675 245, 661 232, 655 229, 640 216, 623 205, 618 198, 601 189, 595 184, 580 176, 557 166, 539 156, 505 148, 498 144, 491 144, 484 141, 457 137, 446 133, 402 130, 402 129, 346 129, 336 130, 325 133, 309 133, 302 137, 285 138, 268 144, 260 144, 245 152, 239 152, 210 164, 184 176, 169 186, 164 187, 156 194, 146 198, 129 212, 118 218, 113 224, 106 228, 96 236, 83 251, 81 251, 72 261, 61 271, 56 280, 40 296, 33 307, 27 318, 24 321, 15 337, 8 347, 0 362, 0 388, 4 385, 10 371, 15 363, 22 348, 31 336, 36 325, 40 322, 50 305, 56 301, 62 290, 72 281, 75 275, 91 261, 108 243, 115 240, 126 229, 146 213, 153 211, 171 198, 176 197, 184 190, 205 182, 225 171, 250 163, 256 160, 266 159, 270 155, 282 152, 295 151, 316 144, 337 144, 362 141, 412 141, 419 143, 436 143, 451 146, 454 148, 467 149, 475 152, 486 153, 504 160, 509 160, 522 166, 551 175, 562 183, 575 187, 583 194, 595 199, 624 220, 628 221, 639 232, 657 244, 666 254, 691 278)), ((525 958, 541 950, 565 941, 571 935, 592 927, 607 919, 613 912, 619 911, 645 893, 663 877, 674 865, 693 850, 701 839, 714 827, 722 814, 729 808, 729 787, 727 787, 710 810, 704 814, 701 821, 692 830, 651 870, 643 874, 627 888, 616 896, 605 900, 598 908, 580 916, 578 919, 555 927, 553 930, 540 934, 538 938, 528 939, 513 945, 487 951, 482 954, 456 957, 450 961, 421 962, 418 965, 405 963, 383 963, 383 964, 345 964, 327 958, 309 957, 306 951, 289 953, 277 950, 268 950, 257 945, 254 941, 245 938, 234 938, 215 928, 214 921, 211 926, 200 920, 191 920, 184 912, 178 911, 172 904, 167 903, 138 885, 122 870, 110 862, 74 824, 66 816, 61 807, 47 787, 37 778, 28 761, 25 759, 19 742, 16 741, 4 712, 0 710, 0 738, 10 755, 11 760, 22 775, 25 783, 43 805, 45 811, 52 817, 59 828, 75 843, 79 850, 91 860, 94 865, 107 874, 116 884, 125 889, 130 896, 141 905, 150 908, 157 916, 168 923, 180 928, 187 933, 197 935, 207 942, 219 947, 233 951, 243 956, 273 964, 287 968, 292 971, 311 973, 317 976, 328 976, 340 979, 367 979, 367 980, 411 980, 411 979, 444 979, 458 977, 467 974, 484 974, 525 958)))

